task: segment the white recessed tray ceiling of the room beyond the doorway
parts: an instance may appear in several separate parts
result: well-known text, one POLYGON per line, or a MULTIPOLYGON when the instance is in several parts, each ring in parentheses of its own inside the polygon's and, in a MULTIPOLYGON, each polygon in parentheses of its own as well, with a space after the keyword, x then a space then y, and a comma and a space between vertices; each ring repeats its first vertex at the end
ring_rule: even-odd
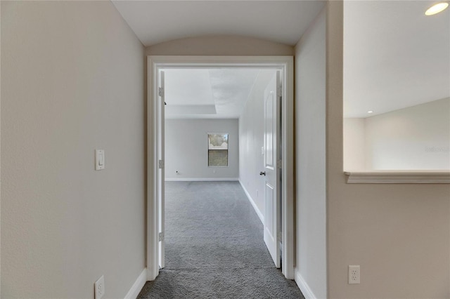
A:
POLYGON ((259 69, 165 69, 169 119, 237 119, 259 69))

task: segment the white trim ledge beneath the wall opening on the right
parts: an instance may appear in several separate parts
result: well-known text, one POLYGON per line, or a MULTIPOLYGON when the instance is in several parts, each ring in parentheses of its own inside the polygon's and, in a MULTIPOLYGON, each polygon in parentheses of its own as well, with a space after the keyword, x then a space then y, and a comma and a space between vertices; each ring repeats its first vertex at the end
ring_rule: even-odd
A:
POLYGON ((348 184, 450 184, 450 171, 345 171, 348 184))

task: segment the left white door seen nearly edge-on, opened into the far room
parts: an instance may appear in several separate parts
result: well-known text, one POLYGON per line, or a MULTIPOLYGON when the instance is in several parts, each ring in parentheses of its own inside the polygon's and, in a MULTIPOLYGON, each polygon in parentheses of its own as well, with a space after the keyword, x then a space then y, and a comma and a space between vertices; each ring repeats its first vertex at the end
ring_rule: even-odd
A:
POLYGON ((165 242, 164 242, 164 183, 165 183, 165 173, 164 173, 164 121, 165 121, 165 86, 164 86, 164 72, 160 72, 159 88, 158 88, 158 115, 160 116, 158 121, 158 206, 160 213, 160 223, 159 223, 159 260, 160 269, 165 267, 165 242))

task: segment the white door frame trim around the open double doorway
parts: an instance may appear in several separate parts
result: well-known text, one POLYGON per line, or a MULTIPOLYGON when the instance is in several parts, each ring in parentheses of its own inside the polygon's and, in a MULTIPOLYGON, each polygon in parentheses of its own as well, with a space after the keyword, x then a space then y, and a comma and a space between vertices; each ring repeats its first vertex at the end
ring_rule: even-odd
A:
POLYGON ((283 76, 282 111, 282 272, 294 279, 294 58, 293 56, 147 56, 147 199, 146 263, 147 281, 159 274, 159 198, 158 198, 158 72, 183 67, 255 67, 281 69, 283 76), (156 100, 155 100, 156 99, 156 100))

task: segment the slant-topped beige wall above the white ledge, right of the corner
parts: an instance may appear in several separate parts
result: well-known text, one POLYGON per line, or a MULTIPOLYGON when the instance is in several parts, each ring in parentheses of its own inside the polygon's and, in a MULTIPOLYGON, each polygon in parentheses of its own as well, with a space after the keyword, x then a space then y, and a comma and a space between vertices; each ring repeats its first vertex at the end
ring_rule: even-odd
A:
POLYGON ((449 170, 450 98, 365 119, 366 169, 449 170))

